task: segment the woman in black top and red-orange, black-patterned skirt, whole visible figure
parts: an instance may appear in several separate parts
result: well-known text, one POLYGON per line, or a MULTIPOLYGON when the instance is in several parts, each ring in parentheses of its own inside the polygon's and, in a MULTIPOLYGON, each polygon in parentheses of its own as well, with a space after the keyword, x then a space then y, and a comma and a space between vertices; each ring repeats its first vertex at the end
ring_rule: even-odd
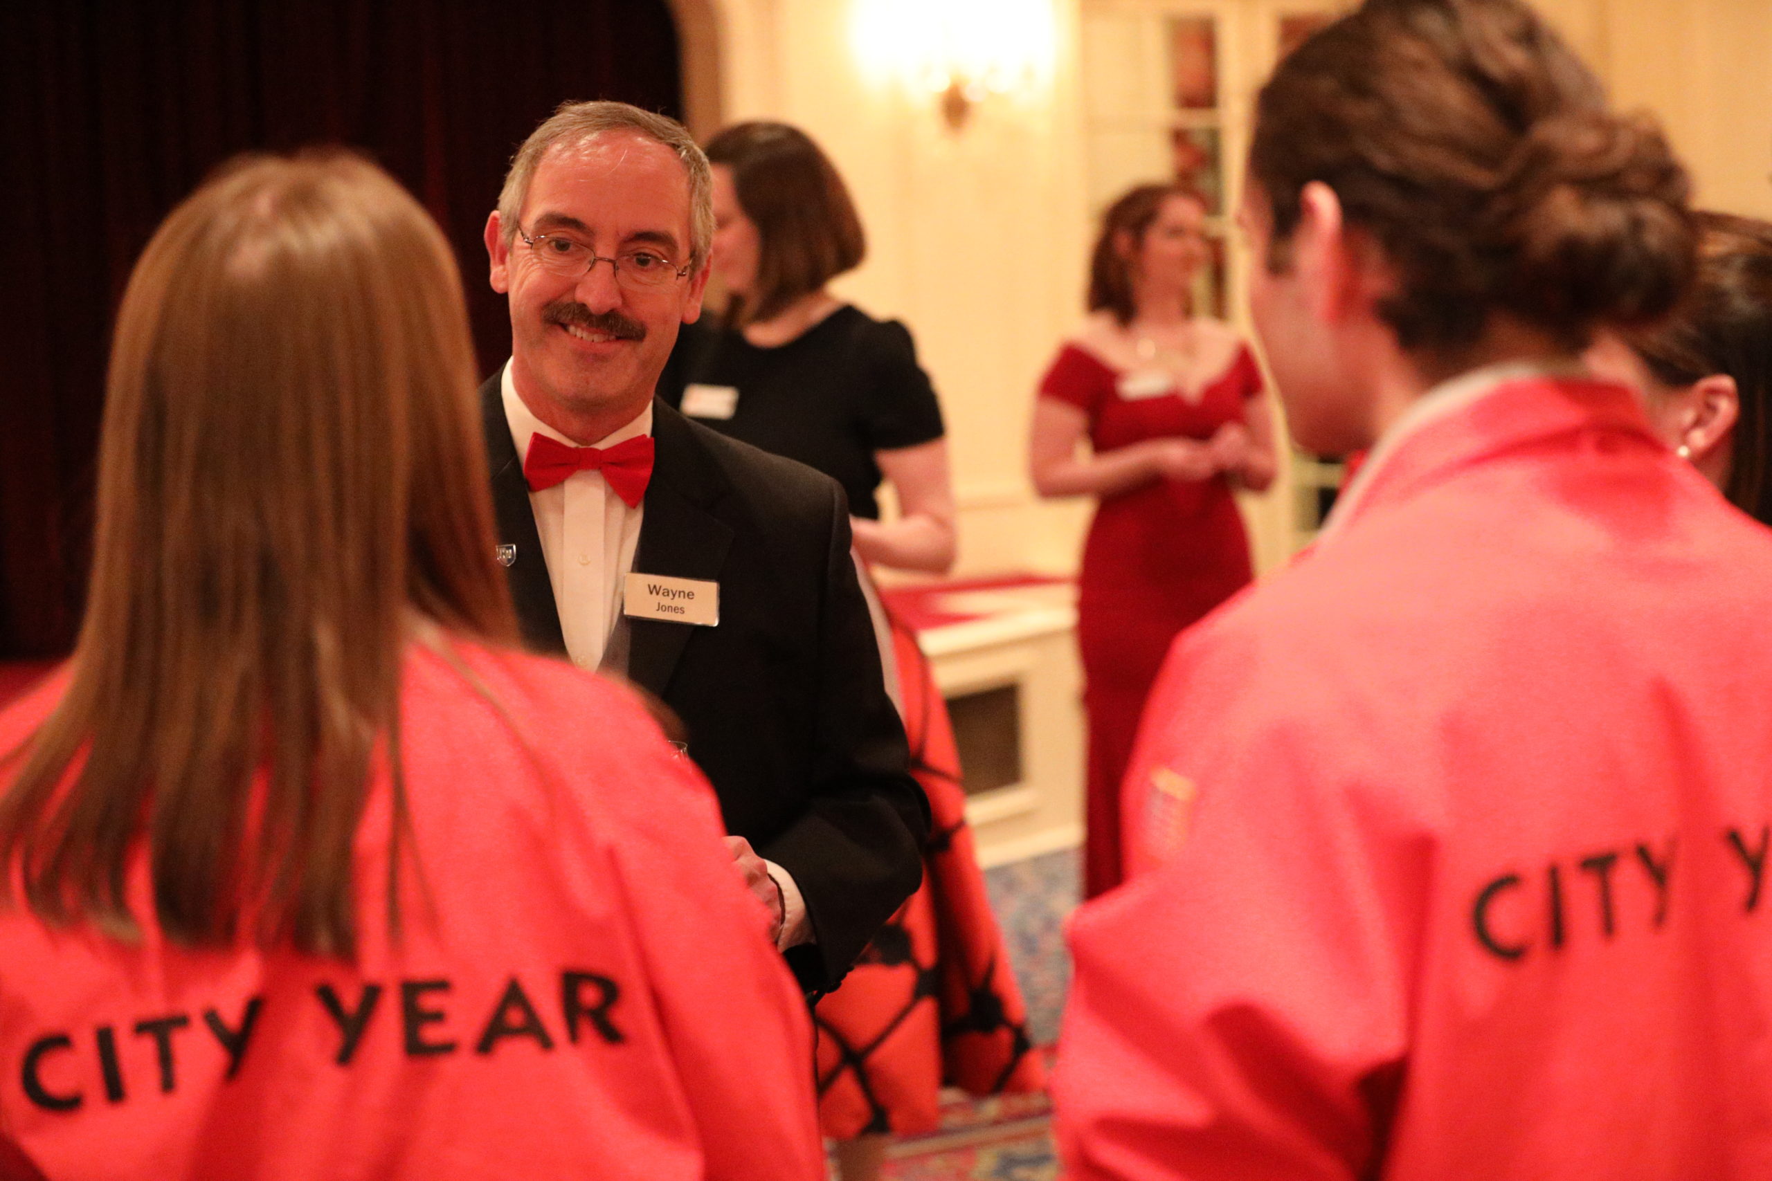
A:
MULTIPOLYGON (((948 444, 911 333, 826 289, 863 255, 842 177, 785 124, 728 127, 707 158, 727 310, 684 328, 659 395, 842 483, 863 575, 875 565, 946 572, 955 549, 948 444), (879 519, 882 480, 898 499, 893 521, 879 519)), ((941 1084, 978 1094, 1044 1084, 966 829, 946 706, 916 637, 870 600, 936 825, 923 887, 815 1013, 819 1117, 838 1142, 843 1181, 879 1176, 886 1133, 932 1131, 941 1084)))

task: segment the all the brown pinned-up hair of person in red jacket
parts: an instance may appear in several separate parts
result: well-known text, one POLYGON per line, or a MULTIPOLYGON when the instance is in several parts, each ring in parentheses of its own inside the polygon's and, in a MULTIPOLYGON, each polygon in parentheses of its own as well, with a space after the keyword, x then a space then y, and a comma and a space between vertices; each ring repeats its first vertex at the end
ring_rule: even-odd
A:
POLYGON ((1286 55, 1249 175, 1274 237, 1327 181, 1396 273, 1379 315, 1462 365, 1504 315, 1581 349, 1667 312, 1692 274, 1685 174, 1524 0, 1366 0, 1286 55))

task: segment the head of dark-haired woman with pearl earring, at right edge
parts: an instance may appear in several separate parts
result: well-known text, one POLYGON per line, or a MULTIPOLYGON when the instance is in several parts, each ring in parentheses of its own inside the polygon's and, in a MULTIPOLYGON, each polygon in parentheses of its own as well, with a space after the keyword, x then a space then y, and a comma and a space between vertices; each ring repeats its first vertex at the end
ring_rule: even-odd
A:
POLYGON ((1698 214, 1698 282, 1664 322, 1602 333, 1588 368, 1636 386, 1650 423, 1729 503, 1772 524, 1772 225, 1698 214))

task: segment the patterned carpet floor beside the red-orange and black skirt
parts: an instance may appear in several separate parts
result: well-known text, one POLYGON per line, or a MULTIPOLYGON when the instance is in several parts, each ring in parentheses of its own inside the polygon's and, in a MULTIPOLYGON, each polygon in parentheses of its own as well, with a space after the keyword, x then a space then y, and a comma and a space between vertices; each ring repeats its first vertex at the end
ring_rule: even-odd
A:
MULTIPOLYGON (((1077 850, 985 871, 991 907, 1028 1000, 1028 1032, 1044 1046, 1058 1039, 1070 984, 1063 921, 1077 905, 1077 850)), ((898 1140, 886 1158, 888 1181, 1056 1181, 1058 1176, 1051 1103, 1044 1094, 969 1100, 948 1092, 941 1128, 898 1140)))

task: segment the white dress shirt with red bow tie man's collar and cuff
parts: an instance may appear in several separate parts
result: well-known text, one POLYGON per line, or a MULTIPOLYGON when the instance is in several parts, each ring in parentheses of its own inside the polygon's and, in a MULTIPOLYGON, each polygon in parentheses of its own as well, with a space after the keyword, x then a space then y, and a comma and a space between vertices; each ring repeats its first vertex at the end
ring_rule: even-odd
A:
MULTIPOLYGON (((535 418, 525 405, 523 398, 517 397, 509 361, 500 377, 500 390, 505 400, 505 421, 510 425, 510 441, 517 446, 519 460, 528 457, 530 439, 537 434, 567 446, 581 446, 576 439, 567 439, 535 418)), ((652 434, 652 402, 647 402, 645 409, 634 414, 627 425, 611 430, 590 446, 608 448, 647 434, 652 434)), ((548 581, 553 584, 555 607, 560 613, 565 653, 572 657, 572 664, 583 669, 595 669, 602 664, 610 632, 615 630, 622 611, 622 586, 634 568, 634 547, 640 545, 640 521, 645 515, 645 506, 647 503, 640 501, 629 508, 601 471, 574 471, 551 489, 530 492, 535 531, 542 538, 542 560, 548 563, 548 581)), ((783 921, 776 946, 787 951, 796 944, 812 942, 806 899, 799 892, 794 875, 767 859, 764 859, 764 866, 781 891, 783 921)))

